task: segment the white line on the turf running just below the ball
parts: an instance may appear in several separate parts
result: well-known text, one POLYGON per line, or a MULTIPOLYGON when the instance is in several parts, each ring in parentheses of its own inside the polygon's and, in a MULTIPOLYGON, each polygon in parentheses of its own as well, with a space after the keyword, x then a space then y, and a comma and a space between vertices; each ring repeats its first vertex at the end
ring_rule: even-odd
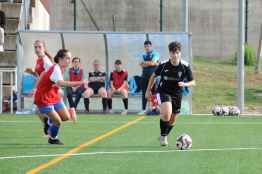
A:
MULTIPOLYGON (((209 151, 247 151, 262 150, 262 147, 235 147, 235 148, 215 148, 215 149, 190 149, 190 150, 137 150, 137 151, 100 151, 100 152, 83 152, 74 153, 70 156, 95 156, 95 155, 121 155, 121 154, 142 154, 142 153, 176 153, 176 152, 209 152, 209 151)), ((60 157, 64 154, 48 154, 48 155, 23 155, 23 156, 5 156, 0 160, 21 159, 21 158, 41 158, 41 157, 60 157)))

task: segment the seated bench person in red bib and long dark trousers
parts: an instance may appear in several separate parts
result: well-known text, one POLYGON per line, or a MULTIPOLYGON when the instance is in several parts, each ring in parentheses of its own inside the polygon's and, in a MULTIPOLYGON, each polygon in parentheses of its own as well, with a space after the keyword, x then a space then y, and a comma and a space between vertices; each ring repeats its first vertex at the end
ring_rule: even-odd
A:
MULTIPOLYGON (((72 59, 73 66, 69 68, 69 81, 77 82, 82 81, 84 77, 84 71, 80 64, 80 58, 74 57, 72 59)), ((67 99, 70 108, 77 108, 77 105, 82 97, 82 94, 85 92, 86 88, 84 85, 75 86, 75 87, 66 87, 67 99), (75 100, 73 96, 75 95, 75 100)))

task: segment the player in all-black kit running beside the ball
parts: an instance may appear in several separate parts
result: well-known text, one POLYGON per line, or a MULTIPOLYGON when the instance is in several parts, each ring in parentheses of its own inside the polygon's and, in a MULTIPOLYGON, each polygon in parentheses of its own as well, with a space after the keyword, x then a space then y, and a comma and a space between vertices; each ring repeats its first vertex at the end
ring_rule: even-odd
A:
POLYGON ((167 146, 167 136, 180 113, 183 87, 195 85, 190 65, 181 60, 181 44, 171 42, 168 45, 170 59, 161 63, 150 77, 146 97, 151 95, 155 77, 160 76, 158 100, 160 103, 160 145, 167 146))

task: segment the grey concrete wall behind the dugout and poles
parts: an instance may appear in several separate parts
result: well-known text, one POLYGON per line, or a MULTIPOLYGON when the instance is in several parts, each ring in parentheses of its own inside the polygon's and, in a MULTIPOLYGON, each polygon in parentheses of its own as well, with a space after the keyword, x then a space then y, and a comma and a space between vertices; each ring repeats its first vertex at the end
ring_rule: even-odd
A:
MULTIPOLYGON (((232 57, 238 41, 239 0, 189 0, 193 54, 205 57, 232 57)), ((96 30, 81 0, 77 2, 77 29, 96 30)), ((160 0, 84 0, 100 30, 159 31, 160 0), (115 26, 113 25, 115 16, 115 26)), ((181 31, 182 0, 163 0, 164 31, 181 31)), ((73 4, 54 0, 51 29, 73 29, 73 4)), ((257 49, 262 1, 249 0, 248 41, 257 49)))

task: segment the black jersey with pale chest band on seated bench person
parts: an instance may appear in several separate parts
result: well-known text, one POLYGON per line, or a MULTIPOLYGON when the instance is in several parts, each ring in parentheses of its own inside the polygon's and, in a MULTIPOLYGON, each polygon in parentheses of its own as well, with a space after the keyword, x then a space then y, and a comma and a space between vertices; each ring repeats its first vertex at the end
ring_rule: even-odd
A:
POLYGON ((101 71, 90 72, 88 74, 88 86, 91 88, 105 87, 106 73, 101 71))

